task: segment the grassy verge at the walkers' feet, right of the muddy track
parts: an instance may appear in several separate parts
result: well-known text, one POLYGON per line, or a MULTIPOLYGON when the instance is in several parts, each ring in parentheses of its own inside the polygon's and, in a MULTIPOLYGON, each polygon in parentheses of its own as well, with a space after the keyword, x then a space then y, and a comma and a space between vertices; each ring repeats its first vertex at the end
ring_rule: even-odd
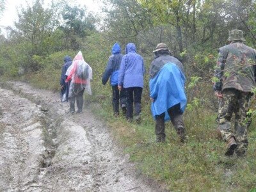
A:
POLYGON ((154 121, 143 108, 141 125, 128 124, 124 117, 113 118, 111 99, 93 108, 113 130, 117 141, 129 153, 140 172, 163 183, 170 191, 250 191, 256 188, 255 124, 249 129, 246 157, 224 156, 225 143, 216 132, 216 113, 197 108, 184 115, 188 141, 180 143, 170 122, 166 143, 156 143, 154 121), (201 111, 196 113, 196 111, 201 111), (204 113, 202 113, 204 111, 204 113))

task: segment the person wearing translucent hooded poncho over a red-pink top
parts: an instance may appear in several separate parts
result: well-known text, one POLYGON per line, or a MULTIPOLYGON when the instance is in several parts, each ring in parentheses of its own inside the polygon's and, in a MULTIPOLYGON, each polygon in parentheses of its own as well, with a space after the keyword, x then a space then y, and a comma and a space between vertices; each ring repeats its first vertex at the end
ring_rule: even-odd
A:
POLYGON ((69 85, 70 113, 75 113, 75 102, 77 104, 77 113, 83 113, 83 93, 84 90, 92 95, 90 80, 92 79, 92 68, 84 61, 81 51, 75 56, 72 65, 66 72, 66 82, 69 85))

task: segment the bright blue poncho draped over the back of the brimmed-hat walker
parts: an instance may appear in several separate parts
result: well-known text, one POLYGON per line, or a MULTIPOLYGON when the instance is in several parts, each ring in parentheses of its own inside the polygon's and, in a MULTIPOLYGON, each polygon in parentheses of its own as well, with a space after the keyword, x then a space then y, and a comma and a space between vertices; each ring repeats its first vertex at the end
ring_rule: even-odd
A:
POLYGON ((184 90, 186 77, 174 63, 166 63, 161 70, 150 79, 150 97, 154 99, 151 104, 152 116, 165 113, 164 121, 170 120, 168 109, 180 103, 182 112, 186 109, 187 98, 184 90))

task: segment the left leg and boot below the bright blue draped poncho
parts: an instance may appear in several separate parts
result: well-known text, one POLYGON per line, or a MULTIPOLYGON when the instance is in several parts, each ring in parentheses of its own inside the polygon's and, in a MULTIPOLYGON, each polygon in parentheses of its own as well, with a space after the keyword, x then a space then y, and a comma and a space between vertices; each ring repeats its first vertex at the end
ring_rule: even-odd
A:
POLYGON ((165 141, 164 133, 164 113, 161 115, 156 115, 156 141, 163 142, 165 141))

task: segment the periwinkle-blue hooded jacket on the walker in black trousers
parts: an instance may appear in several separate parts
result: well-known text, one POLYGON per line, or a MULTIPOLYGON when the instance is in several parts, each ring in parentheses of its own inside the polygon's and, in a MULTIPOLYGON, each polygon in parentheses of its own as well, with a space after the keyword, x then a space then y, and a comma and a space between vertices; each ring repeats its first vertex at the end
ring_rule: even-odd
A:
POLYGON ((136 47, 132 43, 126 45, 125 53, 118 74, 118 85, 124 88, 143 88, 143 74, 145 72, 143 58, 136 53, 136 47))

